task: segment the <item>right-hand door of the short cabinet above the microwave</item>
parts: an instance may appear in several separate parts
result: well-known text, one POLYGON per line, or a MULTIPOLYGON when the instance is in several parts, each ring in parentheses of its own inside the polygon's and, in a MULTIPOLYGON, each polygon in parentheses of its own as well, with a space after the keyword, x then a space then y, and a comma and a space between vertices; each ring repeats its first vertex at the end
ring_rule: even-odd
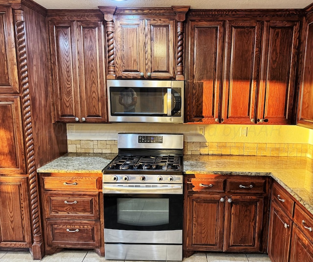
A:
POLYGON ((145 20, 146 72, 148 78, 174 78, 174 20, 145 20))

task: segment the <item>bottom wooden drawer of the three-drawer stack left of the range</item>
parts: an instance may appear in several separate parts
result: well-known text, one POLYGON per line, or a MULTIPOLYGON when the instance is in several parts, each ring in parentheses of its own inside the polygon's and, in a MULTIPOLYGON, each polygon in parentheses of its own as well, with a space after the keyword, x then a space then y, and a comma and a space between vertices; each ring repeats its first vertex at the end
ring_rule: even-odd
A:
POLYGON ((96 248, 100 247, 100 234, 100 222, 47 220, 49 246, 96 248))

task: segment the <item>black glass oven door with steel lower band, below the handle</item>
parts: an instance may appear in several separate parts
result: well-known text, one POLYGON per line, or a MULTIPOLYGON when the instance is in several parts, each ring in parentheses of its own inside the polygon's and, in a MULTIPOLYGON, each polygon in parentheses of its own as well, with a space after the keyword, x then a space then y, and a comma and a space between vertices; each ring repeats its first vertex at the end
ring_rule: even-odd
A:
POLYGON ((182 195, 104 194, 105 242, 182 243, 182 195))

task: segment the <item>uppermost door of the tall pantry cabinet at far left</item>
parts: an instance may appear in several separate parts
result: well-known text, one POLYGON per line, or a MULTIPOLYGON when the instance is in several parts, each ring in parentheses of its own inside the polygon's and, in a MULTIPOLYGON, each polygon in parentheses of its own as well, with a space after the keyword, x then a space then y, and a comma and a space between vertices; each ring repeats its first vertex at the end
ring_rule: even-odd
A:
POLYGON ((0 93, 19 93, 12 9, 0 6, 0 93))

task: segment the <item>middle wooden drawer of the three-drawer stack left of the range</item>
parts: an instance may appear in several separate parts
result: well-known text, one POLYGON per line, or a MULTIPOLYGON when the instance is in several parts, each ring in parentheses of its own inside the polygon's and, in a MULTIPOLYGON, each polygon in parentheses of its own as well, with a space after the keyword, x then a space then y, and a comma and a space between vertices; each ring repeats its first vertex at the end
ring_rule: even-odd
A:
POLYGON ((47 218, 99 219, 99 193, 45 193, 47 218))

